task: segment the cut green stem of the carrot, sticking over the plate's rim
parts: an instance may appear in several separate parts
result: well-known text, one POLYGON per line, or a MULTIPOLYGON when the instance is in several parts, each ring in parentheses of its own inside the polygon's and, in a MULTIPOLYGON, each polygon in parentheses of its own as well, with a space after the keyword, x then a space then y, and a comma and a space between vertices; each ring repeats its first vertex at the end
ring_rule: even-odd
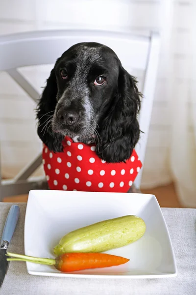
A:
MULTIPOLYGON (((38 258, 38 257, 32 257, 27 255, 21 255, 21 254, 15 254, 7 252, 7 256, 17 258, 17 261, 27 261, 27 262, 33 262, 48 266, 53 266, 56 264, 55 259, 49 259, 49 258, 38 258)), ((13 258, 7 258, 7 261, 14 261, 13 258)))

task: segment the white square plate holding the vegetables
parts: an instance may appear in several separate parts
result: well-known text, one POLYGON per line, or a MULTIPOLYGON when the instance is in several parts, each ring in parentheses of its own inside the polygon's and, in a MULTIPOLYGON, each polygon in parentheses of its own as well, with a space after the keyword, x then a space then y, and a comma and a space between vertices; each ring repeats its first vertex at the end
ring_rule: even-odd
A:
POLYGON ((53 266, 26 263, 29 274, 78 278, 160 278, 177 274, 172 243, 153 195, 31 190, 25 215, 25 255, 53 258, 53 247, 65 234, 124 215, 146 223, 138 241, 108 251, 130 261, 122 266, 61 273, 53 266))

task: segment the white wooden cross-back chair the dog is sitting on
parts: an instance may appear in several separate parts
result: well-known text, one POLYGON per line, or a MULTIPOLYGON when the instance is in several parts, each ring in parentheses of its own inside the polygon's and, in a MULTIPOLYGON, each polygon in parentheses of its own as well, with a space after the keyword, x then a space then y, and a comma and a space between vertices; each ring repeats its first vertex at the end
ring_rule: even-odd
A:
MULTIPOLYGON (((40 94, 17 68, 53 64, 73 44, 88 41, 99 42, 112 48, 121 59, 124 68, 131 74, 132 69, 143 70, 145 73, 143 88, 140 89, 144 98, 139 116, 140 129, 144 133, 141 134, 136 147, 144 164, 160 50, 158 33, 152 32, 149 37, 144 37, 107 31, 48 30, 1 36, 0 71, 7 72, 33 100, 37 101, 40 94)), ((45 178, 29 179, 41 164, 42 156, 38 155, 13 179, 0 178, 0 201, 6 196, 28 193, 30 189, 46 188, 45 178)), ((136 188, 140 187, 142 171, 143 169, 134 182, 136 188)))

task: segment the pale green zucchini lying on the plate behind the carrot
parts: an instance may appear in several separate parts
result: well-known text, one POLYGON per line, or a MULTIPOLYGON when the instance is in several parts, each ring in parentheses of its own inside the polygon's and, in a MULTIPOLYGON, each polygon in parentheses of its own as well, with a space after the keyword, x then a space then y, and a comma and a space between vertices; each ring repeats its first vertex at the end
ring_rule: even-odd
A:
POLYGON ((138 216, 108 219, 63 236, 53 251, 57 256, 71 252, 104 252, 137 241, 145 231, 146 224, 138 216))

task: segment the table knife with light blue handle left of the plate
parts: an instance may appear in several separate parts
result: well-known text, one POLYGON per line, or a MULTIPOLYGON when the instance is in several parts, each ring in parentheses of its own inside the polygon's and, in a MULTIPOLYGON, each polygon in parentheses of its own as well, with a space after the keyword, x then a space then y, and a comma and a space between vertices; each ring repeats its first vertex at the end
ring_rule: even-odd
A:
POLYGON ((5 221, 1 243, 0 243, 0 287, 2 285, 2 282, 4 280, 7 267, 8 267, 8 261, 6 256, 7 247, 14 234, 14 231, 19 219, 19 214, 20 214, 20 207, 17 205, 13 205, 10 208, 5 221))

